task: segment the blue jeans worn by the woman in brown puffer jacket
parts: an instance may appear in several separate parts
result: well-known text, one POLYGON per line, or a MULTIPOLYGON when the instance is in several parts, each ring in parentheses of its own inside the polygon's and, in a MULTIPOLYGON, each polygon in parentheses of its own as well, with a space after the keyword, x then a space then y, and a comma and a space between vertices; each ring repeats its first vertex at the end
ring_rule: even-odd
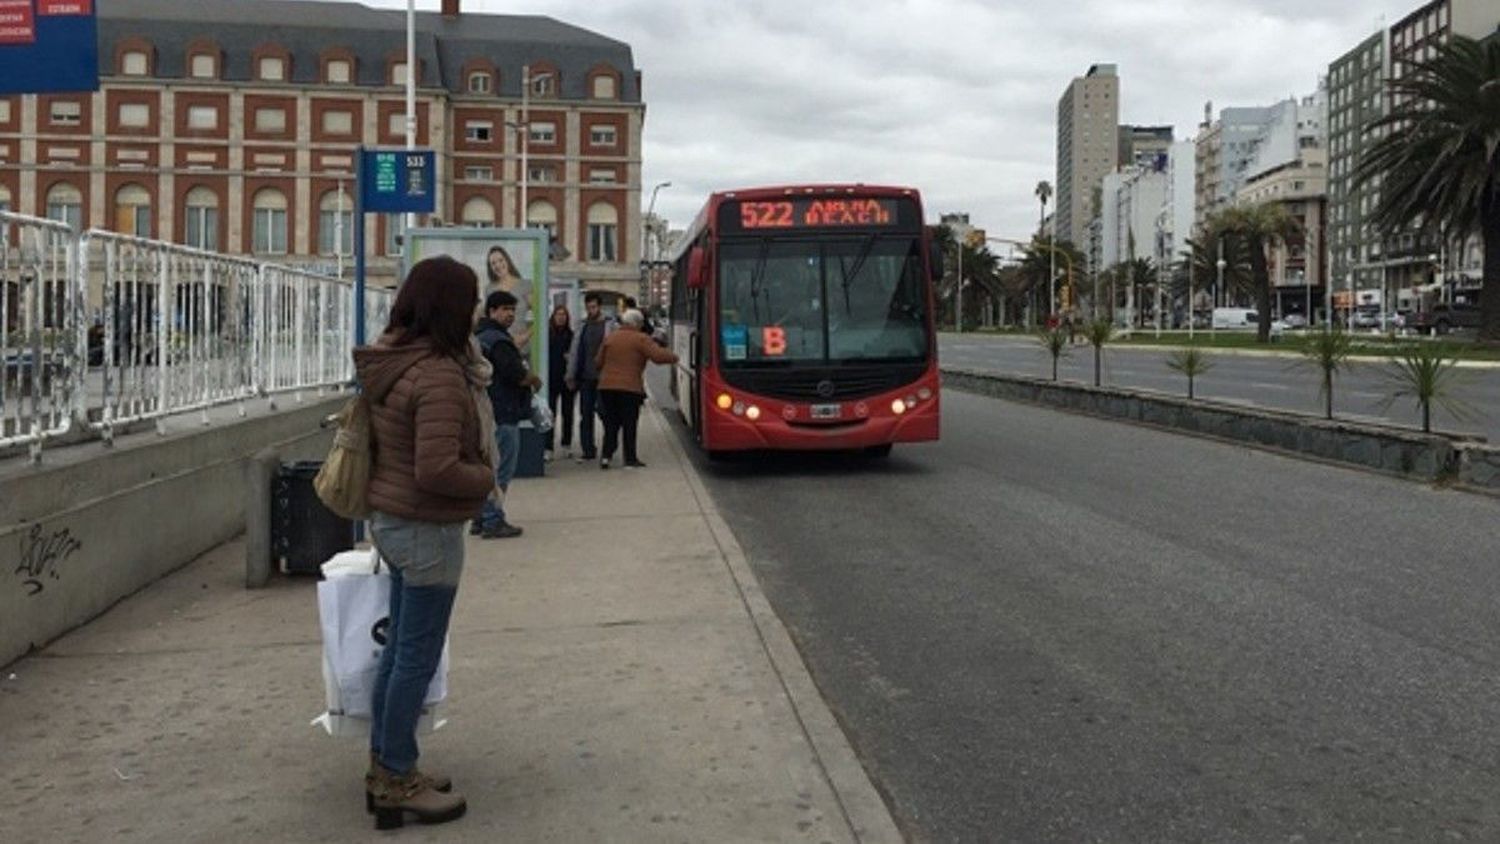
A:
POLYGON ((417 720, 459 592, 464 525, 375 513, 370 534, 392 570, 390 627, 370 702, 370 751, 387 771, 408 774, 417 765, 417 720))

